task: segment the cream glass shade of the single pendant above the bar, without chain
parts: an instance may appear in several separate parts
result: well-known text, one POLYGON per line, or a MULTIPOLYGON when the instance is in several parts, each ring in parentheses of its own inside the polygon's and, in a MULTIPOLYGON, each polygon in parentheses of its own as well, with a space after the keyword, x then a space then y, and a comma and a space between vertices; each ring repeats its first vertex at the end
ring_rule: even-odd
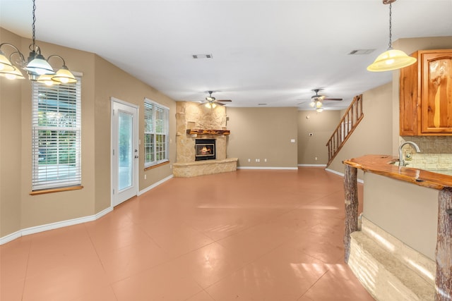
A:
POLYGON ((374 63, 367 67, 367 70, 372 72, 391 71, 410 66, 416 61, 417 59, 408 56, 401 50, 388 49, 380 54, 374 63))

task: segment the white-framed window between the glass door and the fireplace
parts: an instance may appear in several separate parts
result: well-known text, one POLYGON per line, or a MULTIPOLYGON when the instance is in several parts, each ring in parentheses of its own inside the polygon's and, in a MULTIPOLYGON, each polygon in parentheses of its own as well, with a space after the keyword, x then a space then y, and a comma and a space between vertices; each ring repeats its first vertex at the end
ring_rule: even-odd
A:
POLYGON ((168 116, 169 109, 166 106, 145 99, 145 167, 168 161, 168 116))

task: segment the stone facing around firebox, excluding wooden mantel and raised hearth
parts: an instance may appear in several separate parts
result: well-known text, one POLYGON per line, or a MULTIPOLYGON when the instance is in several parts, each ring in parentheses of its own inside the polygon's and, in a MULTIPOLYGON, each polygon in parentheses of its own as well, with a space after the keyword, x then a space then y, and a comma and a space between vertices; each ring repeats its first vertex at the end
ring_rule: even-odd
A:
POLYGON ((186 130, 225 130, 226 108, 217 106, 208 109, 196 102, 177 102, 176 104, 176 163, 190 163, 195 161, 195 140, 215 139, 216 159, 226 159, 225 135, 189 135, 186 130))

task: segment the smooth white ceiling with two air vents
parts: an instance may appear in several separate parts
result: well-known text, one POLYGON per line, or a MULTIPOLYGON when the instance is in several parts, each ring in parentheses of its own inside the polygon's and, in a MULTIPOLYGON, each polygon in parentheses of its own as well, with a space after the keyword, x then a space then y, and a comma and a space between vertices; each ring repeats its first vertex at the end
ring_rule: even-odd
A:
MULTIPOLYGON (((388 47, 389 6, 381 0, 36 0, 36 6, 37 40, 98 54, 177 101, 200 101, 213 90, 217 99, 232 99, 227 106, 310 109, 311 90, 323 88, 344 99, 325 106, 343 109, 392 78, 366 70, 388 47), (349 55, 355 49, 375 51, 349 55)), ((1 27, 31 37, 31 24, 31 0, 0 0, 1 27)), ((451 36, 452 0, 396 1, 392 34, 393 41, 451 36)))

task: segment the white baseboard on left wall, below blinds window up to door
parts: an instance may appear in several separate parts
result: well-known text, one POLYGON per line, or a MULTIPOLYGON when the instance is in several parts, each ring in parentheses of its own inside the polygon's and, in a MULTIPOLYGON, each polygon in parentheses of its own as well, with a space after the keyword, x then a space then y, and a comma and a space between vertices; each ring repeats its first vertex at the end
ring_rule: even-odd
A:
POLYGON ((83 217, 78 217, 76 219, 69 219, 66 221, 57 221, 55 223, 47 223, 45 225, 25 228, 25 229, 16 231, 14 233, 8 234, 8 235, 0 238, 0 245, 5 244, 6 242, 10 242, 11 240, 15 240, 16 238, 20 238, 21 236, 49 231, 49 230, 54 230, 54 229, 63 228, 63 227, 67 227, 67 226, 73 226, 73 225, 77 225, 78 223, 86 223, 88 221, 95 221, 96 219, 100 219, 102 216, 105 216, 105 214, 111 212, 112 210, 113 210, 113 207, 108 207, 107 209, 104 209, 104 210, 98 212, 97 214, 93 214, 90 216, 83 216, 83 217))

